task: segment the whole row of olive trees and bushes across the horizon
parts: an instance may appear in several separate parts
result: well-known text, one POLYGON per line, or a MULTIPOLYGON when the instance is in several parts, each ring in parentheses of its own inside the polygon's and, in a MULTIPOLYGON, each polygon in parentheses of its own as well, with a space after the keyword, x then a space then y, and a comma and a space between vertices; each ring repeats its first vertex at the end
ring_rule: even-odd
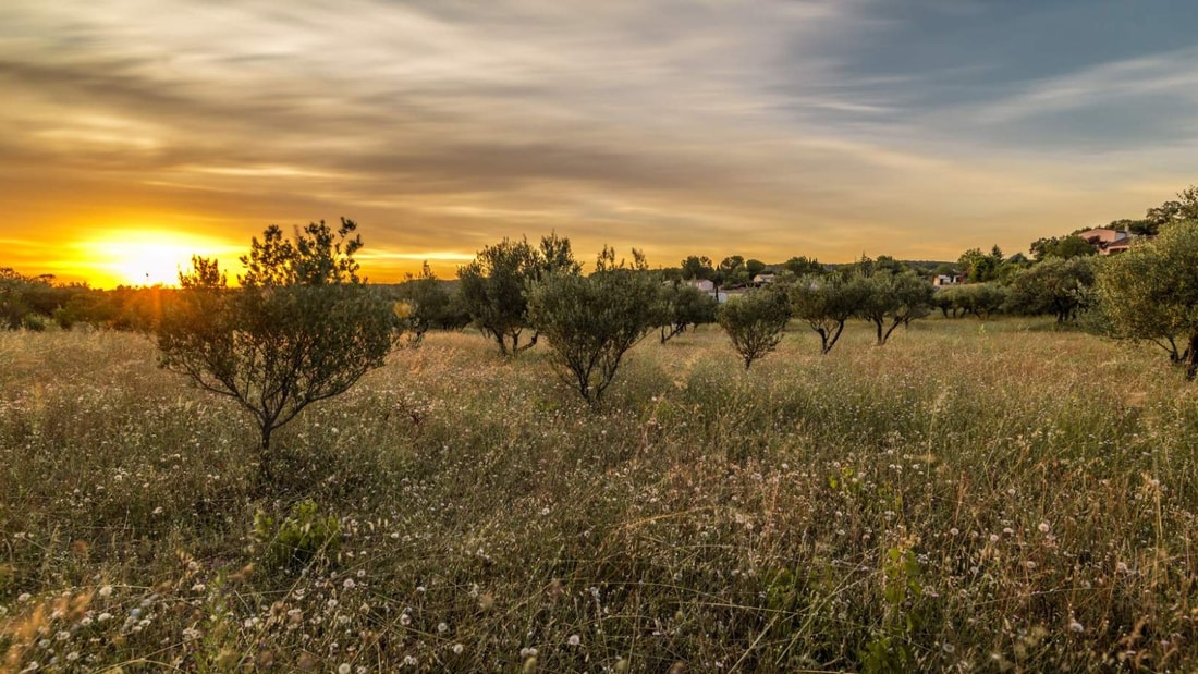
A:
MULTIPOLYGON (((1185 207, 1198 202, 1193 188, 1179 196, 1185 207)), ((320 221, 296 227, 289 238, 272 225, 252 239, 236 285, 214 260, 195 256, 177 291, 111 296, 123 297, 123 309, 138 309, 132 329, 155 335, 163 368, 249 413, 260 433, 264 485, 273 479, 271 439, 278 427, 308 405, 347 390, 392 348, 418 346, 434 327, 468 323, 509 358, 544 338, 555 371, 591 405, 599 403, 628 351, 654 329, 665 342, 716 322, 749 369, 776 348, 791 321, 812 329, 827 354, 848 320, 871 323, 883 346, 900 326, 936 309, 980 318, 1018 310, 1052 314, 1059 322, 1084 315, 1095 332, 1156 344, 1187 378, 1198 374, 1198 219, 1174 218, 1158 236, 1101 261, 1043 253, 1036 261, 1011 262, 997 247, 990 254, 967 251, 962 261, 973 262, 970 273, 982 269, 980 278, 1004 265, 1019 268, 1005 283, 939 291, 926 269, 885 256, 834 268, 792 259, 774 269, 739 256, 719 265, 690 256, 671 271, 652 269, 639 250, 623 259, 605 247, 583 274, 570 241, 556 233, 536 245, 521 238, 484 247, 459 269, 454 293, 428 266, 398 287, 371 286, 358 275, 355 254, 363 244, 356 229, 351 220, 335 230, 320 221), (770 283, 722 304, 686 283, 755 285, 754 277, 764 272, 773 272, 770 283)), ((0 316, 10 327, 37 329, 28 318, 32 308, 62 323, 78 306, 95 310, 96 297, 107 296, 0 273, 0 316)))

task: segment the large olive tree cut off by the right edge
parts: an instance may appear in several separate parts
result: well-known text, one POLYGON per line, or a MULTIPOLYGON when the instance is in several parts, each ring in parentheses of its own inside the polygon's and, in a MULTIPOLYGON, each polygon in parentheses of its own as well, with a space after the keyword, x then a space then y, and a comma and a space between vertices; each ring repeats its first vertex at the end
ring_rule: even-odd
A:
POLYGON ((1103 260, 1097 293, 1112 333, 1151 341, 1198 375, 1198 220, 1166 225, 1161 235, 1103 260))

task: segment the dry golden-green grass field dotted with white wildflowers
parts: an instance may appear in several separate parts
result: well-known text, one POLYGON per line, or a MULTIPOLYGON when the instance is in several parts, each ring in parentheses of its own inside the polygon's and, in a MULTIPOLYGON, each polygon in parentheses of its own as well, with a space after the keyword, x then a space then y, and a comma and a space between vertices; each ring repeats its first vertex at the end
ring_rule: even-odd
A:
POLYGON ((871 339, 649 338, 592 411, 432 334, 262 502, 146 338, 0 333, 0 672, 1198 668, 1198 387, 1051 322, 871 339))

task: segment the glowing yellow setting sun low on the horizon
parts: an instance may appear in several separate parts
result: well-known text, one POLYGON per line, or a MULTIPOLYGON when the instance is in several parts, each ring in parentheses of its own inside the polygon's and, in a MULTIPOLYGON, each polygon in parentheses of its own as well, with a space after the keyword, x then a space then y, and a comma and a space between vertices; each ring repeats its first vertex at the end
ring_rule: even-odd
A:
POLYGON ((193 255, 219 257, 228 251, 207 237, 162 230, 111 230, 80 247, 96 283, 126 286, 176 286, 193 255))

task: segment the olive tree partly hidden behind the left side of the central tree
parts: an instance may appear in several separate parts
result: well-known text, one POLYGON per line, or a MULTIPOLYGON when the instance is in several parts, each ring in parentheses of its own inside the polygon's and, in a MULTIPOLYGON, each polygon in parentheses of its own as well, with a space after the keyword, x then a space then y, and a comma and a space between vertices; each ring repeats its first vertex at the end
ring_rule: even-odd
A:
POLYGON ((541 237, 539 248, 528 239, 506 238, 458 269, 458 292, 474 324, 495 340, 500 353, 515 356, 537 344, 536 332, 520 344, 528 326, 528 286, 553 274, 577 275, 581 268, 568 238, 549 235, 541 237))

